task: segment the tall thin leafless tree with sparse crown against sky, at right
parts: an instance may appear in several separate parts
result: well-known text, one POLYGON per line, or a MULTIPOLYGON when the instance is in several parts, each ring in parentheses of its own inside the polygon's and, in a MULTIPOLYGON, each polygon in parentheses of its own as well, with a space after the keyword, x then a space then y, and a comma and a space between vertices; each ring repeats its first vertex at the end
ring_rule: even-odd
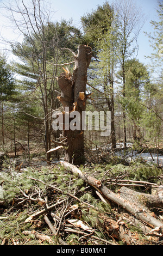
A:
MULTIPOLYGON (((117 40, 120 46, 120 62, 122 68, 123 98, 126 97, 126 69, 125 64, 135 49, 131 48, 137 40, 140 29, 143 26, 141 9, 137 8, 134 1, 117 0, 114 2, 114 9, 118 19, 117 40)), ((127 146, 126 109, 123 109, 123 139, 124 148, 127 146)))

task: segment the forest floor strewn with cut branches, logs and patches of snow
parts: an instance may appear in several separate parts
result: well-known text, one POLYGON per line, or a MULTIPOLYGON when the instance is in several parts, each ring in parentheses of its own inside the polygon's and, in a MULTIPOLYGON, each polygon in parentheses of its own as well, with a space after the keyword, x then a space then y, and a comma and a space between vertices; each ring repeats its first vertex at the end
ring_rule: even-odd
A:
POLYGON ((96 148, 79 167, 34 151, 1 159, 0 245, 163 245, 161 148, 96 148))

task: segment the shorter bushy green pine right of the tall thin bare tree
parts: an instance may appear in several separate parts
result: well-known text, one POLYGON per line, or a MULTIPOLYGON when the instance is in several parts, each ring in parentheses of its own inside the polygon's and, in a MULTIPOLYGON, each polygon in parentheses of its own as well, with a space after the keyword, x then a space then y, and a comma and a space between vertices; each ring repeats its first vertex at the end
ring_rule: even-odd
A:
MULTIPOLYGON (((133 123, 133 141, 140 141, 142 135, 141 117, 143 97, 146 87, 148 87, 149 72, 143 63, 137 59, 131 59, 126 62, 126 97, 121 96, 121 104, 126 109, 129 121, 133 123)), ((122 71, 121 71, 122 72, 122 71)))

